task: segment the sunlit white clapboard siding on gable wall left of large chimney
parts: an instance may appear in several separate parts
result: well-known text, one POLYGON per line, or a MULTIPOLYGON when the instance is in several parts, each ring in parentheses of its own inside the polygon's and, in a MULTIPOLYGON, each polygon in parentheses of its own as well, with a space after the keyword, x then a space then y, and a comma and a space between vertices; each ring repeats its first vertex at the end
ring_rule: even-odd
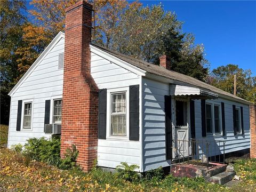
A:
MULTIPOLYGON (((51 134, 44 133, 45 100, 52 96, 62 95, 63 69, 58 69, 58 56, 64 52, 64 39, 52 47, 41 62, 31 71, 13 93, 11 99, 10 125, 8 147, 21 143, 29 138, 50 138, 51 134), (29 131, 16 131, 18 100, 33 99, 33 124, 29 131)), ((23 112, 23 111, 22 111, 23 112)))

